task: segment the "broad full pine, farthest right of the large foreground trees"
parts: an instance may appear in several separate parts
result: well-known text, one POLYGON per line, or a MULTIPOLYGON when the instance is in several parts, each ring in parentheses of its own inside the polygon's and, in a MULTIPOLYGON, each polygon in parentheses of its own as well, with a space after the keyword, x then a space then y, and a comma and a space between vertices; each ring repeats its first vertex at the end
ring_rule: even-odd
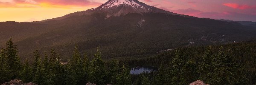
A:
POLYGON ((241 66, 235 61, 231 50, 224 51, 221 47, 218 54, 215 54, 211 60, 212 71, 208 74, 211 76, 207 82, 211 85, 237 85, 246 84, 247 79, 244 77, 241 66))

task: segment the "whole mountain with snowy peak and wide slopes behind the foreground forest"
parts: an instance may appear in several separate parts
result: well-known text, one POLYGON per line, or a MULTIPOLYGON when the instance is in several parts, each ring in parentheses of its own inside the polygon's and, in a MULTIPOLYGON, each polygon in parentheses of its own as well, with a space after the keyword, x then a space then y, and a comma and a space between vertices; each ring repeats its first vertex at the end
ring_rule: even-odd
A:
POLYGON ((253 27, 175 14, 137 0, 109 0, 97 8, 40 22, 1 22, 0 32, 0 46, 13 37, 23 60, 33 59, 36 48, 41 54, 54 48, 64 61, 72 56, 75 44, 90 56, 101 46, 103 58, 138 58, 179 46, 256 37, 253 27))

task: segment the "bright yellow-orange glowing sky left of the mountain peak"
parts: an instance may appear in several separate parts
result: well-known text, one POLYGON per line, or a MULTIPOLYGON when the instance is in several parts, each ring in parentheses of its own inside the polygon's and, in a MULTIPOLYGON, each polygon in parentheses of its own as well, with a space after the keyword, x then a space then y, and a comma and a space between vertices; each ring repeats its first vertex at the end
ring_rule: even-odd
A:
POLYGON ((76 5, 59 5, 52 3, 1 3, 0 2, 0 22, 16 21, 30 22, 41 21, 76 11, 85 11, 97 6, 76 6, 76 5))

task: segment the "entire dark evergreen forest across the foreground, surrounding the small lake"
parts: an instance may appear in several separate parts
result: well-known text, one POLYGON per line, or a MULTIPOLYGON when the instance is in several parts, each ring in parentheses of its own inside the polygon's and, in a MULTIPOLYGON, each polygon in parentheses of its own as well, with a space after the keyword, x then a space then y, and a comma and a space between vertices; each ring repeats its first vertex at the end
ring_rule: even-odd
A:
POLYGON ((40 85, 84 85, 87 82, 97 85, 188 85, 203 80, 210 85, 253 85, 256 79, 255 47, 254 41, 180 47, 146 58, 103 60, 100 48, 90 59, 87 54, 81 54, 76 45, 68 62, 62 62, 52 49, 50 54, 44 55, 35 50, 31 57, 33 61, 26 60, 22 64, 17 46, 10 39, 0 54, 0 83, 22 79, 40 85), (129 74, 131 67, 139 65, 156 66, 158 71, 129 74))

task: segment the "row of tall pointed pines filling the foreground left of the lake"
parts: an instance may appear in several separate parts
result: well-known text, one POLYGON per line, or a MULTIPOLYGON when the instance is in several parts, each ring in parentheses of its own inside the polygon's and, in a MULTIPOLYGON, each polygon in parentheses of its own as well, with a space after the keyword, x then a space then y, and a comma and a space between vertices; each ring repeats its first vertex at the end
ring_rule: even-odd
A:
POLYGON ((0 54, 0 83, 12 79, 21 79, 23 82, 35 82, 39 85, 85 85, 92 82, 97 85, 108 83, 114 85, 131 85, 130 69, 126 65, 120 66, 116 59, 108 65, 102 60, 99 49, 94 58, 89 60, 86 54, 81 57, 78 46, 75 46, 73 57, 67 64, 60 62, 60 57, 52 49, 50 54, 41 55, 34 51, 32 66, 29 61, 22 65, 17 55, 17 46, 10 39, 6 48, 0 54))

